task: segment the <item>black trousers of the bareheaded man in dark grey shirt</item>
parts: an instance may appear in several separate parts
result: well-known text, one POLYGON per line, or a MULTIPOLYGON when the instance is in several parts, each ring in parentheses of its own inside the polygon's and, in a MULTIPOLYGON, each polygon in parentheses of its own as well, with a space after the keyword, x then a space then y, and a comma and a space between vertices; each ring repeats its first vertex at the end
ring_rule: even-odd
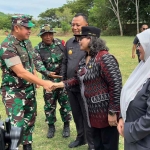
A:
POLYGON ((94 148, 91 128, 87 124, 86 112, 80 92, 67 91, 72 109, 72 116, 76 125, 77 140, 87 141, 90 148, 94 148))

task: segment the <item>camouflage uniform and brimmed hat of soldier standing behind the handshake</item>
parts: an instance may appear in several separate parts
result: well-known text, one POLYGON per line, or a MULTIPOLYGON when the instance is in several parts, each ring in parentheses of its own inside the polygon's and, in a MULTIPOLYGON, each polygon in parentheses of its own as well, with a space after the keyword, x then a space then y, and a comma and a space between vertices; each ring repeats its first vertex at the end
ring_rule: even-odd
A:
MULTIPOLYGON (((41 32, 39 35, 46 31, 55 32, 46 24, 41 26, 41 32), (42 31, 43 30, 43 31, 42 31)), ((60 79, 54 79, 49 76, 50 72, 56 72, 60 75, 60 68, 63 59, 64 46, 59 39, 53 39, 51 45, 46 45, 44 42, 40 42, 35 48, 34 64, 36 70, 42 74, 42 78, 51 80, 53 82, 59 82, 60 79)), ((56 122, 56 102, 58 100, 61 108, 60 114, 63 122, 71 120, 71 108, 68 102, 68 95, 63 89, 57 89, 53 92, 43 91, 43 97, 45 101, 44 111, 46 115, 46 121, 48 124, 54 124, 56 122)))

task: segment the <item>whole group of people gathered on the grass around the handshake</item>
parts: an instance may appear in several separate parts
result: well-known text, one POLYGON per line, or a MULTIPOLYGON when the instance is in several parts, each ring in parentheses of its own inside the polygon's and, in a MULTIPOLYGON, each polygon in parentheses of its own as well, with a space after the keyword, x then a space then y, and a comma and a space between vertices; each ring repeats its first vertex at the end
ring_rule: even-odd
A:
POLYGON ((11 33, 0 45, 2 101, 11 125, 23 128, 23 150, 32 150, 38 86, 43 87, 47 138, 55 136, 58 101, 62 137, 70 136, 72 116, 76 126, 76 139, 69 148, 87 143, 88 150, 118 150, 120 134, 125 150, 150 149, 148 26, 143 25, 134 40, 140 62, 122 88, 117 59, 100 37, 101 30, 89 26, 84 14, 73 17, 73 37, 66 43, 55 38, 51 25, 43 24, 38 34, 41 42, 34 48, 29 40, 34 27, 31 19, 12 16, 11 33))

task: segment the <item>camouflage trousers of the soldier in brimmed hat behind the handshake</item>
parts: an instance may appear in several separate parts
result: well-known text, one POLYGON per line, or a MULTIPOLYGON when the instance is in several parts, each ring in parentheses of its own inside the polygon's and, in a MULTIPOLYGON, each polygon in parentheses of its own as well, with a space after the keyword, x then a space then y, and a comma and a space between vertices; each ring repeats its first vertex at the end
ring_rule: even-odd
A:
POLYGON ((56 122, 56 107, 57 100, 60 105, 60 115, 63 122, 71 120, 71 107, 68 101, 67 92, 63 89, 56 89, 52 92, 43 90, 43 97, 45 101, 44 111, 46 116, 46 122, 48 124, 54 124, 56 122))

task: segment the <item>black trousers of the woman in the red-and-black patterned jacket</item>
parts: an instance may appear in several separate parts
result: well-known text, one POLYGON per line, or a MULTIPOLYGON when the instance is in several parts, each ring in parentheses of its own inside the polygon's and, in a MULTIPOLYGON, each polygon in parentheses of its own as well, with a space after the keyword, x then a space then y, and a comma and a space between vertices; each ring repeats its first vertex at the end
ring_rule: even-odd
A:
POLYGON ((117 127, 92 128, 95 150, 118 150, 117 127))

